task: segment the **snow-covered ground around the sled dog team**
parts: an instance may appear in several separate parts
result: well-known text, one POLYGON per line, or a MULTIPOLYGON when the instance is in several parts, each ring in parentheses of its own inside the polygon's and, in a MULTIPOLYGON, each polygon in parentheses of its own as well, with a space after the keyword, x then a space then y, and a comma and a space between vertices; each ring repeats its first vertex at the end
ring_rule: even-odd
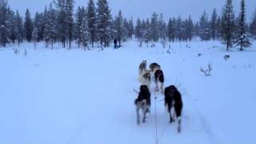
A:
POLYGON ((147 49, 138 42, 104 51, 49 50, 42 44, 37 50, 22 44, 18 54, 16 46, 0 49, 0 143, 154 144, 156 106, 159 144, 254 144, 255 44, 226 52, 219 42, 175 42, 170 54, 160 44, 147 49), (165 85, 182 92, 182 134, 169 123, 153 84, 151 114, 137 125, 133 89, 140 85, 142 59, 161 64, 165 85), (213 71, 206 77, 200 67, 209 63, 213 71))

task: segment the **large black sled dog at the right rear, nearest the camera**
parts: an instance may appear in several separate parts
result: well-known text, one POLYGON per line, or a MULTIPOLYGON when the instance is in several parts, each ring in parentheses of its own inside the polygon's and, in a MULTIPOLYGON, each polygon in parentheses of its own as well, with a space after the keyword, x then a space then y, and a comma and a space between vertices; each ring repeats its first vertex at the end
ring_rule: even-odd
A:
POLYGON ((181 133, 182 124, 182 95, 175 86, 169 86, 165 89, 165 106, 170 114, 170 123, 178 119, 178 133, 181 133))

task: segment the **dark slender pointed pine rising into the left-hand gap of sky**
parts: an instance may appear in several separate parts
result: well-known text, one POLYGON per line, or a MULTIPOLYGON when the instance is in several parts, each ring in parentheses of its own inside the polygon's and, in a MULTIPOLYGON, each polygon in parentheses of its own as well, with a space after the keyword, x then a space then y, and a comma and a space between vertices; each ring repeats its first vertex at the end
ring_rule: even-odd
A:
POLYGON ((25 17, 25 34, 26 34, 26 41, 31 42, 32 39, 32 31, 33 31, 33 22, 30 17, 30 10, 26 9, 26 17, 25 17))

